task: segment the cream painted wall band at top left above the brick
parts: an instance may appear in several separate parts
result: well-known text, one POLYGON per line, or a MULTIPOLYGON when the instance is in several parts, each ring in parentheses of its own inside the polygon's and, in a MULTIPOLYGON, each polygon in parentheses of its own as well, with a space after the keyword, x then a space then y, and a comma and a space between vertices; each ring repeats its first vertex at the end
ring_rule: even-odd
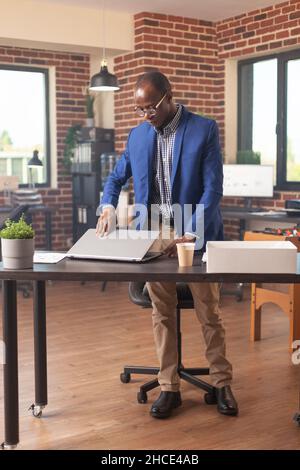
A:
MULTIPOLYGON (((59 3, 34 0, 0 0, 2 38, 64 44, 78 52, 103 45, 102 12, 59 3)), ((133 18, 124 12, 105 11, 105 43, 108 49, 133 48, 133 18)))

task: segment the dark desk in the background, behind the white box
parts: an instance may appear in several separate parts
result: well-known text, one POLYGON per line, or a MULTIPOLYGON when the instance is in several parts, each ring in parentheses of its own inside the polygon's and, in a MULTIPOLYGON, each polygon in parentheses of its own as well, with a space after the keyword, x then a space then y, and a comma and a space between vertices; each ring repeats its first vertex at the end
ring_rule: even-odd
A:
POLYGON ((283 211, 267 211, 259 209, 257 212, 254 212, 255 209, 252 211, 247 211, 243 209, 243 207, 221 207, 221 212, 223 219, 237 219, 240 221, 240 228, 239 228, 239 235, 240 240, 244 238, 244 232, 249 229, 248 222, 255 220, 255 221, 268 221, 271 223, 277 222, 284 222, 287 223, 289 226, 294 226, 300 223, 300 217, 291 217, 283 211))

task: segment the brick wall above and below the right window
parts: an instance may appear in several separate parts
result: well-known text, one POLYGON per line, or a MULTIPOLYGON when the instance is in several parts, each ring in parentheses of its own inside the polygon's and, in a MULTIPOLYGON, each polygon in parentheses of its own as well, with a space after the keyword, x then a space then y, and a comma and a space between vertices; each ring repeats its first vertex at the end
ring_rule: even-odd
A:
MULTIPOLYGON (((216 30, 221 61, 245 59, 254 54, 269 55, 297 48, 297 45, 300 47, 300 1, 290 0, 226 19, 216 24, 216 30)), ((298 197, 300 193, 278 191, 273 199, 254 199, 253 205, 281 209, 286 199, 298 197)), ((223 198, 224 205, 243 205, 243 202, 239 198, 223 198)), ((226 235, 236 238, 237 222, 224 222, 226 235)))

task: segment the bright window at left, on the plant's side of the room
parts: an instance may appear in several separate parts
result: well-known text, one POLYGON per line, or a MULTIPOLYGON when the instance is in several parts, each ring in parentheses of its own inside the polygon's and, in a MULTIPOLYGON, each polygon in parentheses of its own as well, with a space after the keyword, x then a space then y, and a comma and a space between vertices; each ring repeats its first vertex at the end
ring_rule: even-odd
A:
POLYGON ((0 174, 29 183, 28 161, 38 150, 36 186, 50 185, 48 71, 0 65, 0 174))

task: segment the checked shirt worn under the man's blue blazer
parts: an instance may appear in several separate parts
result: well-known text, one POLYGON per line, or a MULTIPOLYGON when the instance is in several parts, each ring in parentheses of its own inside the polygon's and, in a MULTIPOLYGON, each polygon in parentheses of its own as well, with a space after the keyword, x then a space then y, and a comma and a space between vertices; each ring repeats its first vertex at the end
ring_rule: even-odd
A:
POLYGON ((156 129, 157 146, 153 165, 151 204, 156 204, 159 213, 170 219, 172 213, 171 173, 176 130, 182 114, 182 106, 177 105, 177 113, 162 130, 156 129))

